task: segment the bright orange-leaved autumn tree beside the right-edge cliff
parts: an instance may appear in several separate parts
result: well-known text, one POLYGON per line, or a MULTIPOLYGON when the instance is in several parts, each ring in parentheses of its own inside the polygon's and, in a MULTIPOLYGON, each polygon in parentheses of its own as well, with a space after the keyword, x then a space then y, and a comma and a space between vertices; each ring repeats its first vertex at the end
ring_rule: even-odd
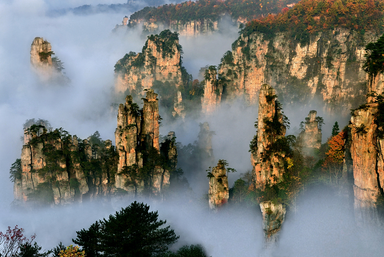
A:
POLYGON ((337 184, 340 176, 340 171, 344 162, 344 150, 345 150, 345 137, 344 131, 332 136, 328 140, 329 150, 325 153, 327 158, 323 164, 323 168, 329 171, 329 183, 332 184, 332 175, 335 177, 335 183, 337 184))

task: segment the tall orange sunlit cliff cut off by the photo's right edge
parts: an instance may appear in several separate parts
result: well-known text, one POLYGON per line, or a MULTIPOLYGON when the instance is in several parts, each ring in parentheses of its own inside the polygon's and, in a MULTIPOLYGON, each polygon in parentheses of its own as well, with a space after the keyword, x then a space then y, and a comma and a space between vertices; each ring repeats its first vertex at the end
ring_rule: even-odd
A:
MULTIPOLYGON (((370 77, 370 92, 382 92, 382 74, 370 77)), ((382 104, 368 97, 368 104, 354 111, 351 117, 351 157, 354 177, 354 210, 357 225, 382 225, 379 209, 384 188, 384 139, 378 136, 382 126, 377 121, 382 115, 382 104)))

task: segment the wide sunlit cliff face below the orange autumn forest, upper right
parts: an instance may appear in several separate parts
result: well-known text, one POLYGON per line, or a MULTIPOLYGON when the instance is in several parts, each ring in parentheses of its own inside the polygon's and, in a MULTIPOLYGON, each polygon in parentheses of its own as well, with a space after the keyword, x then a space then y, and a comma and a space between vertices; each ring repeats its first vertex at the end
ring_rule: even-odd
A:
POLYGON ((219 66, 224 98, 231 102, 240 97, 254 105, 261 85, 269 84, 285 105, 303 106, 316 98, 327 110, 347 114, 364 102, 364 48, 375 38, 373 32, 362 36, 340 28, 301 44, 288 32, 243 33, 219 66))

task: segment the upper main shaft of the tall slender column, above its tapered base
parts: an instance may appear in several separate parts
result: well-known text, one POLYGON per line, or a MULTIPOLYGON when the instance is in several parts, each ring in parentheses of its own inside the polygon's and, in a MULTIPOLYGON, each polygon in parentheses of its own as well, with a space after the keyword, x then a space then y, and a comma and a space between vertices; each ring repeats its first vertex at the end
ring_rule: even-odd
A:
POLYGON ((258 188, 279 182, 284 172, 285 153, 273 150, 286 131, 281 107, 275 98, 275 90, 264 84, 259 95, 258 132, 251 149, 253 177, 258 188))

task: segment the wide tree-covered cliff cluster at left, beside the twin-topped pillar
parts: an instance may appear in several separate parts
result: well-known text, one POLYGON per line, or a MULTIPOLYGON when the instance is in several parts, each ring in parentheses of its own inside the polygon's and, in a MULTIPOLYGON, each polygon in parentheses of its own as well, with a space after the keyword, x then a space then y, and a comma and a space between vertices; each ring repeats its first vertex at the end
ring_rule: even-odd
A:
POLYGON ((112 193, 116 158, 110 140, 98 146, 79 142, 67 131, 45 129, 40 134, 31 128, 26 130, 22 171, 14 183, 16 204, 66 205, 112 193))

